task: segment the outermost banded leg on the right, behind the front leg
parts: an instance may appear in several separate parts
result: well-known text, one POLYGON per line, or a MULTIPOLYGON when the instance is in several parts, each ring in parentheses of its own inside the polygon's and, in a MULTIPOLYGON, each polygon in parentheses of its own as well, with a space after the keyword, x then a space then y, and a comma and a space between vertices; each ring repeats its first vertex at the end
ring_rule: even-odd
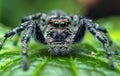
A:
POLYGON ((96 25, 96 29, 104 33, 104 35, 106 36, 106 38, 107 38, 108 41, 109 41, 110 46, 113 48, 114 53, 115 53, 116 55, 118 55, 119 53, 118 53, 115 45, 113 44, 113 42, 112 42, 112 40, 111 40, 111 38, 110 38, 110 35, 109 35, 108 31, 107 31, 103 26, 99 26, 99 25, 96 25))

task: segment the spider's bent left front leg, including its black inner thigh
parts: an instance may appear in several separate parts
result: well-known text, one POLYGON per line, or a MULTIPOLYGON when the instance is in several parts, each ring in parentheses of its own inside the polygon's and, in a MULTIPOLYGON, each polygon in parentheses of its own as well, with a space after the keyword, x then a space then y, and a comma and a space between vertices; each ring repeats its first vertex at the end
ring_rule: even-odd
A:
POLYGON ((23 55, 23 69, 28 69, 28 42, 30 41, 31 36, 35 38, 40 43, 46 44, 45 38, 41 32, 41 29, 35 21, 31 21, 31 23, 26 28, 26 33, 22 39, 22 55, 23 55))

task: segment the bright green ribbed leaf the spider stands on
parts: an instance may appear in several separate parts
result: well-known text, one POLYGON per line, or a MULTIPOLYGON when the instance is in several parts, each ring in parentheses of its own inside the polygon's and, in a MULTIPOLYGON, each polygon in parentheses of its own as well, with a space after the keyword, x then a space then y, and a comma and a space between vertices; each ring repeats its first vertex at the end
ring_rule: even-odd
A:
MULTIPOLYGON (((106 21, 107 22, 107 21, 106 21)), ((9 28, 0 26, 0 40, 9 28)), ((109 30, 120 49, 119 30, 109 30)), ((0 76, 119 76, 120 56, 113 55, 116 70, 109 68, 104 49, 98 40, 86 33, 82 43, 75 44, 68 56, 51 56, 49 46, 30 42, 27 71, 22 70, 21 42, 13 46, 14 37, 7 40, 0 51, 0 76), (91 56, 91 52, 95 55, 91 56)), ((120 52, 120 51, 119 51, 120 52)), ((113 52, 112 52, 113 53, 113 52)))

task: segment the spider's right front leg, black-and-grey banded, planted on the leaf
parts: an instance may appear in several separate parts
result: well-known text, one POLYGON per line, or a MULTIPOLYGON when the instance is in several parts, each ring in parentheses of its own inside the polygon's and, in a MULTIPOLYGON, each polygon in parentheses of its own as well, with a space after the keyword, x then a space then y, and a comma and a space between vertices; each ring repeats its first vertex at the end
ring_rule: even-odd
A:
POLYGON ((84 23, 86 25, 86 27, 88 28, 88 30, 90 31, 91 34, 93 34, 104 46, 105 50, 106 50, 106 55, 107 58, 109 60, 109 65, 110 68, 112 70, 114 70, 114 64, 113 64, 113 60, 112 60, 112 54, 110 52, 109 49, 109 41, 107 38, 105 38, 94 26, 95 23, 93 23, 91 20, 89 19, 84 19, 84 23))

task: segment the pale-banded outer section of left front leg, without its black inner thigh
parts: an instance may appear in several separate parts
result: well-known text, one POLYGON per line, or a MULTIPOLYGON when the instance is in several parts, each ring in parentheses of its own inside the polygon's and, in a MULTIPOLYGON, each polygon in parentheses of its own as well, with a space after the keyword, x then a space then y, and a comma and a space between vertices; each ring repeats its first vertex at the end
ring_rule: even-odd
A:
POLYGON ((22 56, 23 56, 23 70, 28 69, 28 42, 30 41, 30 37, 32 36, 35 28, 35 23, 31 23, 28 25, 26 29, 26 33, 22 39, 22 56))

